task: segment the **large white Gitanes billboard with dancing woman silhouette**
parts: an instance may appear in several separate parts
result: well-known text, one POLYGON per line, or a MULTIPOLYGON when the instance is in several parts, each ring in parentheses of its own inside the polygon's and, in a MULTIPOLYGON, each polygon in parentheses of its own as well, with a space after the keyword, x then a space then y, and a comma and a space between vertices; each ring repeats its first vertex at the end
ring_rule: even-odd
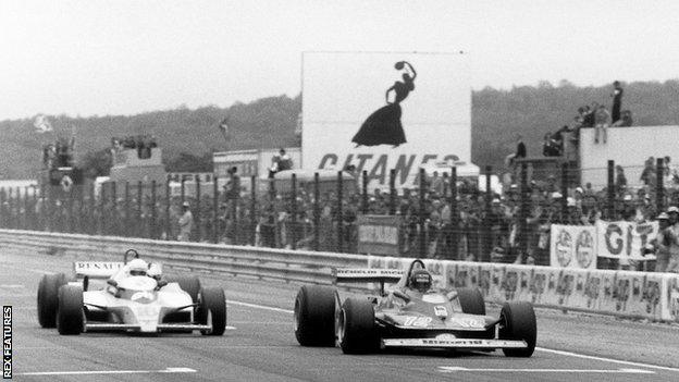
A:
POLYGON ((368 171, 370 187, 412 187, 425 163, 471 159, 464 53, 306 52, 303 167, 368 171))

